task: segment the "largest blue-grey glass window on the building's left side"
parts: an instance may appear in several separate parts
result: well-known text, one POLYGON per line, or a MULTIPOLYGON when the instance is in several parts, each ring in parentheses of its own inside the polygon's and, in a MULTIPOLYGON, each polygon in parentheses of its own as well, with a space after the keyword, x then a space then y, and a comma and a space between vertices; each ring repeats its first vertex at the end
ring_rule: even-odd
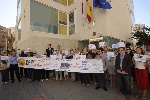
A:
POLYGON ((58 34, 58 11, 31 0, 30 29, 32 31, 58 34))

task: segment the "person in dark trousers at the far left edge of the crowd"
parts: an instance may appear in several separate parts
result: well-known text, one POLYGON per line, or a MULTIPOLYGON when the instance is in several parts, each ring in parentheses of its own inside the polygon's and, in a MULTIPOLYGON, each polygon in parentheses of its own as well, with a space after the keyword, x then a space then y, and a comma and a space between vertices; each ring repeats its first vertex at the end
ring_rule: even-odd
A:
MULTIPOLYGON (((3 52, 3 56, 7 56, 7 52, 3 52)), ((1 70, 2 84, 7 84, 9 81, 9 61, 8 59, 2 59, 1 62, 1 66, 4 66, 3 70, 1 70)))

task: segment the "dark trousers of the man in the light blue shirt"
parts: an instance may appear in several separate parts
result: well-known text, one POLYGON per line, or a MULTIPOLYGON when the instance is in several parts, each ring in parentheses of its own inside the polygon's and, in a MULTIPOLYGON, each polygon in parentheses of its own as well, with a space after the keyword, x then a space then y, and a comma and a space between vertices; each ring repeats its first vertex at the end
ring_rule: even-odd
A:
POLYGON ((10 70, 10 78, 12 81, 14 81, 14 71, 15 71, 17 79, 20 80, 18 64, 15 64, 15 65, 10 64, 9 70, 10 70))

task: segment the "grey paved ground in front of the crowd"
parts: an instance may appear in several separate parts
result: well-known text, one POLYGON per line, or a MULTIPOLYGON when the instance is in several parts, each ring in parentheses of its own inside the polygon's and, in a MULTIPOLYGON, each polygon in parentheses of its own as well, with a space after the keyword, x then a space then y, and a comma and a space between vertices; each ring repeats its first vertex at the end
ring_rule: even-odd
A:
MULTIPOLYGON (((29 82, 22 79, 21 83, 0 85, 0 100, 125 100, 125 96, 116 95, 117 89, 108 88, 106 92, 102 88, 95 90, 93 83, 86 87, 70 80, 29 82)), ((135 91, 132 92, 132 100, 140 100, 134 97, 135 91)), ((147 100, 150 100, 150 91, 147 100)))

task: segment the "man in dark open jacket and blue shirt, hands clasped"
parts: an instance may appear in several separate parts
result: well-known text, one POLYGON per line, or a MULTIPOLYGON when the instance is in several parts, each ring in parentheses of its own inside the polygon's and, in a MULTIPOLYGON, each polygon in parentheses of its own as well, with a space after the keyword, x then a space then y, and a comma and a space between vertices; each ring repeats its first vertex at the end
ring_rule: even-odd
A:
POLYGON ((119 55, 116 57, 115 67, 117 70, 119 82, 120 82, 120 92, 118 95, 126 94, 126 99, 130 100, 131 97, 131 87, 130 87, 130 75, 132 60, 129 55, 125 53, 125 48, 119 48, 119 55))

